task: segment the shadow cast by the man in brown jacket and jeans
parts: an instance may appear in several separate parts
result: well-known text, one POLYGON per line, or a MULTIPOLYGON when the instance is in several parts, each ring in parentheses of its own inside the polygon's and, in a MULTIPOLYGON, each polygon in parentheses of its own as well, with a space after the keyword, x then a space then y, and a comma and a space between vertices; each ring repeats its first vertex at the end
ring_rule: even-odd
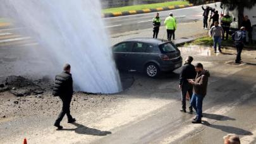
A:
POLYGON ((216 125, 216 124, 210 124, 207 121, 202 121, 202 124, 204 124, 205 126, 208 126, 210 128, 219 129, 226 133, 233 133, 236 135, 253 135, 250 131, 247 131, 247 130, 241 129, 241 128, 235 128, 233 126, 221 126, 221 125, 216 125))

